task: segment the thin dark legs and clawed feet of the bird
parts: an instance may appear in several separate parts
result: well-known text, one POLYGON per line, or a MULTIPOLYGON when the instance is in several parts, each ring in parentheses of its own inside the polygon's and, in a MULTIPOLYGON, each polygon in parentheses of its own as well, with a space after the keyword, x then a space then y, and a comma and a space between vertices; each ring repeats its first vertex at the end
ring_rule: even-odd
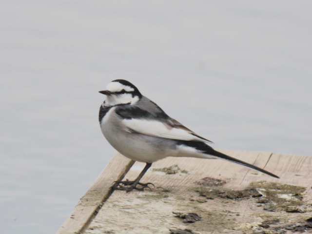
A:
MULTIPOLYGON (((140 175, 137 176, 137 179, 134 181, 129 181, 128 179, 126 181, 115 181, 115 184, 112 186, 113 190, 125 190, 128 192, 136 189, 143 191, 145 188, 148 187, 150 184, 154 186, 152 183, 140 183, 140 179, 144 176, 144 174, 147 172, 147 170, 152 166, 152 163, 146 163, 143 171, 140 173, 140 175), (123 186, 124 185, 124 186, 123 186), (140 185, 141 187, 137 187, 137 185, 140 185)), ((155 187, 155 186, 154 186, 155 187)))

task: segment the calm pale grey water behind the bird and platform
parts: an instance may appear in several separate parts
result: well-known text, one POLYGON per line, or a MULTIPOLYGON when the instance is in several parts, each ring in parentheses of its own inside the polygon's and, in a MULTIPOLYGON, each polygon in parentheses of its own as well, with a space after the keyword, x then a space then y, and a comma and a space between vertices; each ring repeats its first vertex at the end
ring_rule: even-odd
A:
POLYGON ((0 227, 53 234, 115 150, 122 78, 214 147, 312 155, 312 2, 2 0, 0 227))

